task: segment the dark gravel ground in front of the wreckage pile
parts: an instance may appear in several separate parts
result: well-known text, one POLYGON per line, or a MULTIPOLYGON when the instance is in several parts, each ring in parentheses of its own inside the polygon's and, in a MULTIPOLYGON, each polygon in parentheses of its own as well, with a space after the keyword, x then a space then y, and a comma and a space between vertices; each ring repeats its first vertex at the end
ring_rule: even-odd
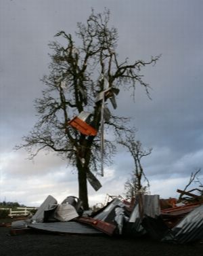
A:
POLYGON ((11 236, 0 227, 1 256, 200 256, 203 243, 166 244, 148 238, 118 238, 29 232, 11 236))

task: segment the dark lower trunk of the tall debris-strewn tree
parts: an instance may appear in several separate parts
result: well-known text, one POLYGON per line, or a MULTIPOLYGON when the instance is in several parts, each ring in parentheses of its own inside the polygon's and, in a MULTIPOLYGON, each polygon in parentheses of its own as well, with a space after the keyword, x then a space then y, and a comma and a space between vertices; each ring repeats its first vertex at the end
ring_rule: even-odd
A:
POLYGON ((88 191, 87 191, 87 170, 81 163, 77 164, 78 168, 78 194, 83 202, 84 210, 89 210, 88 191))

